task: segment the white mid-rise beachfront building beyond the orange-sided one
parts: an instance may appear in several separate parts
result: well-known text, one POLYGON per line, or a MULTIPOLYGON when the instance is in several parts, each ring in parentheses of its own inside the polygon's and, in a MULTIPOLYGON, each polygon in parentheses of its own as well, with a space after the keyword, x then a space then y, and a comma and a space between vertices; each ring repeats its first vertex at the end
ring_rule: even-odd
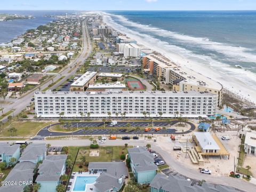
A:
POLYGON ((141 56, 141 49, 137 44, 130 43, 118 43, 117 44, 117 51, 124 53, 124 57, 140 57, 141 56))

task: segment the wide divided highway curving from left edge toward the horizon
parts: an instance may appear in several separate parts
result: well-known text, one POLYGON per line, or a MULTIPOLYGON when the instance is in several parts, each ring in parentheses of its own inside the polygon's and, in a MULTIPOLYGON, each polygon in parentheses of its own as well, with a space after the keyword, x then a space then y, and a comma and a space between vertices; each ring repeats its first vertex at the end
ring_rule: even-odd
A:
MULTIPOLYGON (((79 68, 79 65, 82 65, 84 61, 89 57, 91 51, 92 51, 92 44, 91 44, 91 39, 89 36, 89 31, 86 26, 86 20, 83 21, 82 23, 82 31, 83 31, 83 50, 82 52, 78 55, 78 57, 70 62, 65 68, 63 68, 58 75, 56 75, 53 78, 53 82, 58 81, 59 78, 62 76, 64 78, 61 79, 58 83, 53 85, 51 89, 56 89, 58 86, 60 86, 62 83, 64 83, 70 76, 74 75, 79 68), (70 72, 70 67, 72 68, 72 71, 70 72), (70 73, 69 73, 70 72, 70 73)), ((45 84, 43 84, 40 89, 44 90, 48 85, 50 85, 52 81, 49 81, 45 84)), ((18 115, 23 109, 25 109, 27 106, 29 106, 29 103, 31 102, 31 98, 34 97, 34 92, 39 91, 39 89, 27 94, 25 97, 22 97, 20 99, 15 99, 12 100, 12 104, 6 106, 3 110, 3 113, 7 113, 8 111, 15 109, 11 116, 18 115)), ((7 121, 7 117, 5 116, 4 118, 1 119, 3 123, 7 121)))

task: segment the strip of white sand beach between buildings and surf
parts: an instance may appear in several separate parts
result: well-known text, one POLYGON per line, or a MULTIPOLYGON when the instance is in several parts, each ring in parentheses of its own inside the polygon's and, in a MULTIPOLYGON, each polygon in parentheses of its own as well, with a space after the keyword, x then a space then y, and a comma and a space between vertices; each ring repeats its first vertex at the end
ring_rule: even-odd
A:
MULTIPOLYGON (((123 34, 126 34, 130 38, 135 39, 135 41, 138 42, 138 44, 142 44, 143 46, 147 47, 148 50, 156 51, 157 53, 163 55, 167 59, 170 59, 175 64, 185 67, 191 70, 196 71, 197 73, 201 73, 203 71, 203 75, 206 77, 209 77, 213 79, 216 82, 219 82, 222 84, 223 89, 226 89, 230 92, 232 92, 234 95, 236 95, 237 98, 243 99, 246 101, 250 101, 252 103, 256 103, 256 90, 252 90, 249 85, 246 85, 244 82, 240 81, 239 79, 232 78, 228 74, 221 74, 220 71, 216 71, 208 66, 203 65, 203 63, 199 63, 197 61, 191 60, 191 58, 187 57, 186 55, 180 55, 178 53, 175 53, 170 50, 163 50, 157 46, 153 46, 152 43, 148 43, 146 41, 143 41, 142 38, 138 37, 137 35, 133 35, 129 33, 129 31, 123 31, 122 29, 119 29, 115 23, 111 23, 111 21, 108 21, 106 17, 109 17, 108 15, 102 14, 103 16, 103 22, 105 22, 107 25, 113 27, 117 31, 120 31, 123 34), (152 47, 152 48, 150 48, 152 47), (192 64, 193 63, 193 64, 192 64), (206 75, 209 74, 209 75, 206 75), (232 78, 229 80, 229 78, 232 78)), ((110 17, 111 18, 111 17, 110 17)), ((114 22, 114 21, 113 21, 114 22)))

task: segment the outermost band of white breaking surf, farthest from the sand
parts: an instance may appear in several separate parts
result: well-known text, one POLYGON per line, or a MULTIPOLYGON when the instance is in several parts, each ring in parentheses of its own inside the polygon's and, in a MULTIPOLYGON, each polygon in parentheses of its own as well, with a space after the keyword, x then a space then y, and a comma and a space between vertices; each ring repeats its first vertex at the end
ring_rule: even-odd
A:
POLYGON ((221 54, 225 54, 226 56, 233 58, 234 60, 237 60, 237 61, 244 61, 244 62, 256 61, 256 55, 250 53, 250 51, 251 52, 255 51, 253 49, 219 43, 219 42, 213 42, 207 37, 193 37, 193 36, 179 34, 173 31, 169 31, 169 30, 165 30, 165 29, 161 29, 161 28, 157 28, 149 25, 142 25, 140 23, 130 21, 129 19, 123 17, 122 15, 115 15, 115 14, 109 14, 109 13, 105 13, 105 15, 109 15, 110 17, 117 18, 118 21, 123 23, 125 26, 131 26, 131 27, 137 28, 140 31, 153 33, 154 35, 157 35, 157 36, 172 38, 179 42, 189 43, 195 46, 201 46, 203 49, 212 50, 221 54))

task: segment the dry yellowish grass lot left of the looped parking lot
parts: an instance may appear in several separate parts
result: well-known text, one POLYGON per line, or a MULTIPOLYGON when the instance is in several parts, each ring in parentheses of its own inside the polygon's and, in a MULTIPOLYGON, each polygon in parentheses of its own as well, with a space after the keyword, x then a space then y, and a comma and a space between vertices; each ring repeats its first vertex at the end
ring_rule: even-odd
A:
POLYGON ((10 137, 10 133, 8 132, 8 129, 11 127, 14 127, 17 129, 17 135, 15 134, 14 137, 32 137, 35 136, 35 134, 41 130, 44 126, 49 125, 50 123, 45 122, 20 122, 20 121, 13 121, 11 122, 11 125, 8 123, 6 126, 2 129, 0 132, 1 137, 10 137))

